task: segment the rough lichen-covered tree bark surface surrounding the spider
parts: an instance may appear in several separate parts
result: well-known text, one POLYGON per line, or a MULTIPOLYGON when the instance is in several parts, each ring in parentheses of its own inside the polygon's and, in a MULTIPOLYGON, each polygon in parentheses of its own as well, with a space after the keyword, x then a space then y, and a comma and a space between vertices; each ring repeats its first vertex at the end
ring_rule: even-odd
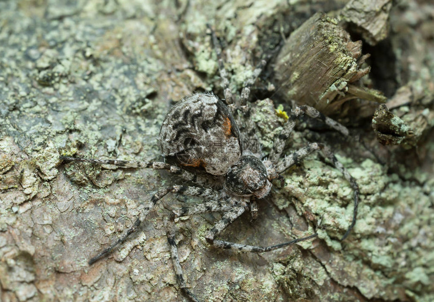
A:
MULTIPOLYGON (((166 196, 137 234, 87 264, 131 226, 153 192, 179 180, 146 169, 66 165, 60 156, 161 160, 157 136, 172 102, 194 91, 223 96, 206 24, 224 46, 235 93, 283 36, 290 39, 315 12, 344 5, 0 2, 0 299, 187 301, 176 282, 165 226, 182 198, 166 196)), ((177 222, 186 281, 200 299, 434 300, 434 50, 427 13, 433 10, 428 2, 392 7, 390 36, 378 44, 390 47, 390 57, 372 55, 369 61, 372 89, 395 95, 393 114, 414 129, 423 127, 415 148, 379 144, 369 120, 352 116, 342 119, 372 153, 355 139, 310 127, 297 128, 289 142, 287 154, 311 141, 331 145, 357 180, 361 201, 350 237, 338 240, 351 222, 352 190, 313 155, 258 201, 254 224, 247 213, 222 238, 267 246, 317 230, 320 239, 245 254, 214 249, 204 240, 219 214, 177 222), (392 61, 389 74, 373 67, 392 61), (395 94, 398 87, 409 93, 395 94)), ((372 18, 366 20, 369 25, 372 18)), ((275 62, 252 87, 258 99, 252 100, 252 119, 264 155, 291 105, 278 98, 285 88, 277 84, 275 62), (283 107, 276 114, 278 105, 283 107)))

